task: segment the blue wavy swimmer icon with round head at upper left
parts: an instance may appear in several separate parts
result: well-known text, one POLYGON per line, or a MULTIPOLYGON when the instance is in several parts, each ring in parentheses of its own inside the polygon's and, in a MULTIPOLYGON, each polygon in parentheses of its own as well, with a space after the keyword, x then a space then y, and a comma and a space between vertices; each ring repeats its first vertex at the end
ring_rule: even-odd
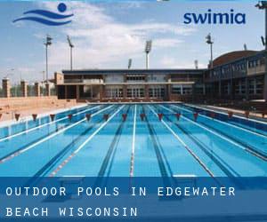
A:
POLYGON ((73 14, 62 14, 63 12, 67 11, 67 5, 66 4, 59 4, 58 5, 58 12, 50 12, 47 10, 31 10, 28 12, 24 12, 24 15, 29 15, 26 17, 21 17, 17 20, 13 20, 13 22, 17 22, 20 20, 31 20, 36 21, 38 23, 44 24, 46 26, 62 26, 66 25, 71 22, 71 20, 65 20, 73 16, 73 14), (42 17, 37 17, 42 16, 42 17), (65 21, 61 21, 65 20, 65 21))

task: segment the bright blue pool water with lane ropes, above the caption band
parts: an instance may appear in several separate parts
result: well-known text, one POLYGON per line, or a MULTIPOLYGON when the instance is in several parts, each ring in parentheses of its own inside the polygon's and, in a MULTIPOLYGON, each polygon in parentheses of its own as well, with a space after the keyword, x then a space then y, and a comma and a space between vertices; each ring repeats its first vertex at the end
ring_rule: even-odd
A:
POLYGON ((267 176, 266 123, 182 104, 99 104, 0 129, 0 176, 182 175, 267 176))

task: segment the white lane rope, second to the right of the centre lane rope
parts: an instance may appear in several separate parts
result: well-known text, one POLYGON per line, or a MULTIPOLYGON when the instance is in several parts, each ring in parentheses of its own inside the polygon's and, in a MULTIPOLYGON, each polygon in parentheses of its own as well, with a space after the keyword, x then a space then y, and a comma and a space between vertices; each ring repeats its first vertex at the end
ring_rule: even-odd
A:
MULTIPOLYGON (((161 106, 161 107, 163 107, 163 106, 161 106)), ((167 108, 167 107, 163 107, 163 108, 165 108, 168 111, 174 111, 174 110, 172 110, 170 108, 167 108)), ((204 129, 206 131, 209 131, 209 132, 213 133, 215 136, 220 137, 221 139, 224 139, 224 140, 230 142, 231 144, 235 145, 236 147, 240 147, 241 149, 247 151, 248 153, 250 153, 252 155, 255 155, 256 157, 260 158, 261 160, 267 161, 267 158, 264 155, 261 155, 260 152, 257 153, 253 148, 245 147, 243 145, 239 145, 238 143, 236 143, 232 139, 228 139, 228 138, 224 137, 223 135, 221 135, 220 133, 217 133, 217 132, 215 132, 215 131, 213 131, 211 129, 206 128, 205 126, 202 126, 199 123, 196 123, 196 122, 190 120, 190 118, 188 118, 188 117, 182 116, 182 118, 188 120, 190 123, 194 123, 195 125, 198 125, 198 127, 202 128, 202 129, 204 129)))

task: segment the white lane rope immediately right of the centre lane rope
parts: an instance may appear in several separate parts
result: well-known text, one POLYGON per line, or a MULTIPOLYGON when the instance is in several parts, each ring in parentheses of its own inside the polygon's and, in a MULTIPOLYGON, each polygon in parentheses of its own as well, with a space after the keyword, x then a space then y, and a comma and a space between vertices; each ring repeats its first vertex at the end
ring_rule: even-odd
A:
MULTIPOLYGON (((149 106, 149 108, 150 108, 150 110, 152 111, 152 113, 154 114, 154 115, 156 115, 156 116, 158 116, 158 114, 149 106)), ((173 129, 172 128, 170 128, 169 126, 168 126, 168 124, 164 121, 164 120, 161 120, 161 123, 163 123, 165 126, 166 126, 166 128, 174 135, 174 137, 176 138, 176 139, 178 139, 179 141, 180 141, 180 143, 182 144, 182 146, 183 147, 185 147, 186 148, 186 150, 190 153, 190 155, 192 155, 194 158, 195 158, 195 160, 202 166, 202 168, 204 169, 204 170, 206 170, 206 172, 211 176, 211 177, 213 177, 214 178, 214 173, 211 171, 211 170, 209 170, 208 169, 208 167, 206 166, 206 164, 205 163, 203 163, 201 160, 200 160, 200 158, 198 157, 198 155, 196 155, 191 149, 190 149, 190 147, 188 147, 187 145, 186 145, 186 143, 173 131, 173 129)))

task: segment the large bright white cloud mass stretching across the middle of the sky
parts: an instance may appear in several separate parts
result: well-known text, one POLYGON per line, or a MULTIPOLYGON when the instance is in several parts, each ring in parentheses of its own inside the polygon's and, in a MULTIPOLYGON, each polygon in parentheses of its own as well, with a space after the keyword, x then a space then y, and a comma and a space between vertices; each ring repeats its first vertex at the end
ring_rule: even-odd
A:
MULTIPOLYGON (((54 10, 57 4, 44 3, 50 10, 54 10)), ((119 63, 125 58, 142 58, 145 40, 153 39, 154 50, 176 47, 182 43, 181 36, 188 36, 195 31, 178 24, 153 20, 131 24, 117 21, 100 5, 68 3, 69 12, 73 12, 74 17, 68 27, 61 29, 61 34, 71 36, 75 44, 76 68, 112 67, 112 64, 119 63)), ((137 4, 137 6, 140 5, 137 4)), ((53 47, 50 48, 50 54, 50 65, 53 68, 61 70, 69 67, 69 49, 66 47, 65 39, 54 42, 53 47)))

